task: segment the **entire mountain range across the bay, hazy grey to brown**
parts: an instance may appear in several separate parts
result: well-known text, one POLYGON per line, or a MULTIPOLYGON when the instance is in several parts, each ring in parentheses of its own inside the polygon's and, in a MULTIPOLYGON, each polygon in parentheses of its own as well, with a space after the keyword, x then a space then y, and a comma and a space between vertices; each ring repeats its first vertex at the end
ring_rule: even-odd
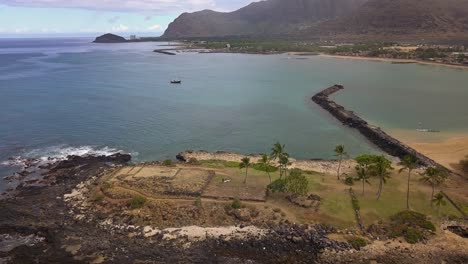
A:
POLYGON ((231 13, 184 13, 163 35, 223 36, 468 40, 468 0, 267 0, 231 13))

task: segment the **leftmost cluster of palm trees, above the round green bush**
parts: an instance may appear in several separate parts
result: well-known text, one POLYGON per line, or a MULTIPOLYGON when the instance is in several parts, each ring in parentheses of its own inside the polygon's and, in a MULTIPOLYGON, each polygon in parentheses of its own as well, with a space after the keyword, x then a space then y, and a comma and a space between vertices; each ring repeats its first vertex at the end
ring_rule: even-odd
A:
MULTIPOLYGON (((265 172, 267 173, 268 178, 270 179, 270 183, 272 182, 270 169, 274 167, 274 165, 272 164, 278 164, 280 179, 282 179, 283 176, 287 176, 288 167, 291 165, 291 161, 289 154, 285 151, 285 148, 286 146, 284 144, 277 142, 271 148, 271 154, 262 154, 260 160, 258 161, 258 163, 265 168, 265 172)), ((250 166, 252 166, 252 163, 250 162, 250 158, 248 157, 244 157, 241 160, 241 163, 239 164, 240 169, 245 169, 244 184, 247 182, 247 175, 250 166)))

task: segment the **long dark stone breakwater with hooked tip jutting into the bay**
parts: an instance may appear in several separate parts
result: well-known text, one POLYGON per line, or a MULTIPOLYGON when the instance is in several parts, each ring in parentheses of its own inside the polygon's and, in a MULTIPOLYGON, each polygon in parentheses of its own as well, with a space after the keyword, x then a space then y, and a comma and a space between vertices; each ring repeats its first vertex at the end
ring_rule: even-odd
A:
POLYGON ((403 158, 407 155, 416 158, 418 163, 427 167, 443 167, 429 157, 419 153, 415 149, 405 145, 403 142, 391 137, 379 127, 367 123, 364 119, 356 115, 353 111, 346 110, 343 106, 330 100, 329 96, 343 90, 342 85, 331 86, 312 97, 312 101, 327 110, 344 125, 355 128, 369 141, 374 143, 386 153, 403 158))

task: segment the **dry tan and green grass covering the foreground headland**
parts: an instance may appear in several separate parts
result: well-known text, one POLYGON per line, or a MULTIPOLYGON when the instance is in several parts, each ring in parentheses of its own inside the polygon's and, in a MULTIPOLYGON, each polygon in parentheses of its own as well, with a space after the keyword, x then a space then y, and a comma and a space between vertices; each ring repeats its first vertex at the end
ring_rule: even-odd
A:
MULTIPOLYGON (((361 218, 365 226, 376 223, 379 220, 386 220, 389 216, 406 209, 407 178, 404 173, 398 174, 394 172, 391 179, 384 185, 381 199, 377 200, 377 178, 371 179, 370 185, 366 184, 365 193, 362 194, 362 184, 360 182, 355 182, 353 186, 348 186, 344 183, 343 179, 338 180, 336 175, 303 172, 303 175, 309 181, 309 194, 321 197, 320 207, 316 211, 291 203, 283 194, 270 194, 267 196, 266 186, 270 183, 270 179, 264 171, 256 170, 252 167, 249 168, 247 181, 244 184, 245 170, 239 169, 239 163, 237 162, 210 160, 202 161, 195 165, 178 164, 174 167, 150 165, 135 168, 133 170, 123 168, 121 172, 125 173, 125 177, 119 176, 119 173, 114 174, 106 178, 102 186, 107 186, 107 193, 113 193, 115 194, 114 197, 121 197, 122 199, 128 199, 136 194, 143 196, 147 194, 146 196, 149 200, 148 208, 153 208, 151 210, 154 210, 157 206, 159 206, 157 207, 159 208, 158 210, 162 210, 160 209, 160 205, 151 205, 152 200, 165 199, 165 201, 175 203, 174 208, 177 208, 178 203, 185 203, 185 207, 183 208, 188 208, 187 206, 190 207, 192 204, 190 199, 196 199, 196 197, 191 198, 190 196, 171 198, 163 193, 158 193, 158 186, 162 183, 169 186, 166 187, 164 185, 162 186, 164 188, 160 187, 163 190, 168 188, 175 190, 183 189, 194 193, 202 190, 200 193, 202 201, 205 205, 211 204, 210 207, 212 209, 210 210, 212 211, 217 210, 216 208, 223 208, 226 203, 229 203, 228 200, 238 198, 246 205, 256 207, 260 211, 269 210, 271 212, 273 210, 273 213, 263 213, 263 215, 270 215, 268 217, 274 219, 277 218, 273 217, 273 215, 277 215, 281 219, 287 219, 294 223, 326 223, 338 228, 357 228, 349 188, 354 189, 359 200, 361 218), (136 173, 135 175, 139 175, 139 177, 131 176, 132 172, 136 173), (214 176, 207 178, 208 172, 214 176), (144 181, 144 184, 142 184, 142 181, 144 181), (132 184, 135 186, 132 186, 132 184), (109 187, 108 185, 113 187, 109 187), (128 188, 125 189, 118 186, 128 188), (215 205, 216 203, 220 205, 215 205), (270 209, 267 210, 266 208, 270 209)), ((279 178, 278 171, 272 172, 270 175, 273 181, 279 178)), ((440 211, 436 206, 431 207, 431 188, 421 183, 419 178, 419 175, 412 176, 410 192, 412 210, 428 215, 435 223, 439 223, 441 219, 447 216, 461 216, 448 201, 445 206, 440 208, 440 211)), ((455 199, 456 202, 465 210, 468 209, 468 202, 460 200, 459 197, 456 197, 458 199, 455 199)), ((112 197, 109 198, 112 199, 112 197)), ((165 206, 163 208, 171 210, 173 207, 165 206)), ((218 215, 221 218, 225 217, 219 212, 213 215, 218 215)), ((208 222, 222 223, 224 221, 221 218, 215 218, 212 217, 208 222)), ((266 221, 270 220, 267 219, 266 221)), ((231 223, 233 220, 230 219, 229 221, 231 223)))

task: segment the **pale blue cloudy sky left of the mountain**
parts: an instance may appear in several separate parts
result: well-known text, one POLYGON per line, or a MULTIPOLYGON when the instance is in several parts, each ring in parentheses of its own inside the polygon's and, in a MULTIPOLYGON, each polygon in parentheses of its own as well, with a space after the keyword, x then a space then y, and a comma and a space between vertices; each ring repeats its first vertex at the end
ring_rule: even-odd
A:
POLYGON ((0 37, 159 36, 183 12, 233 11, 253 0, 0 0, 0 37))

